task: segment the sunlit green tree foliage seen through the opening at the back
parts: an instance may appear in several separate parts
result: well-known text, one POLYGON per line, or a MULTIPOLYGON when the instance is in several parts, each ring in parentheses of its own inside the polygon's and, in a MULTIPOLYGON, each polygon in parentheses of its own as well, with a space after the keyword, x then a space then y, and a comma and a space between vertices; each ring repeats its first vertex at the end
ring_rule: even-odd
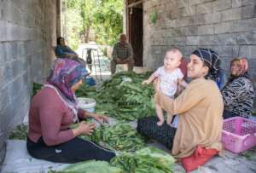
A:
POLYGON ((113 45, 123 32, 122 0, 65 0, 65 3, 67 44, 73 49, 89 41, 113 45))

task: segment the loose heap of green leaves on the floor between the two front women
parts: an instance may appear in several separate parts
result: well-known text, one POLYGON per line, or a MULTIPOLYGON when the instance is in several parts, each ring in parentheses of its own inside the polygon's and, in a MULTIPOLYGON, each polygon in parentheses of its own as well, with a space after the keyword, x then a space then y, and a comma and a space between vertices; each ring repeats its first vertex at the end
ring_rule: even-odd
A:
MULTIPOLYGON (((73 125, 74 128, 76 125, 73 125)), ((102 124, 91 136, 79 136, 94 141, 111 150, 134 152, 145 146, 146 139, 137 133, 130 124, 118 123, 113 126, 102 124)))

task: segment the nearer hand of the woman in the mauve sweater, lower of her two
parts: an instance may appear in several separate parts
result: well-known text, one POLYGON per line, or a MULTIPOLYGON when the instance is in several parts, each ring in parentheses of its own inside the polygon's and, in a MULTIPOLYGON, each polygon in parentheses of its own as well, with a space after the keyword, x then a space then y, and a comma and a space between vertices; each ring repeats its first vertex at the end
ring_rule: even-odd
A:
POLYGON ((74 136, 90 136, 96 128, 95 123, 85 124, 84 122, 79 123, 79 127, 73 129, 74 136))

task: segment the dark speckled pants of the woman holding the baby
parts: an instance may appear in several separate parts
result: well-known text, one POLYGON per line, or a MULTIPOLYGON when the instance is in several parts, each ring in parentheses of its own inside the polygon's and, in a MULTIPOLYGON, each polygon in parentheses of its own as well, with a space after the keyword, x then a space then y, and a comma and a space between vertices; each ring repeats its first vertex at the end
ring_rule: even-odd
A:
POLYGON ((167 148, 172 149, 176 128, 166 123, 158 126, 158 121, 156 116, 138 119, 137 131, 144 136, 148 136, 150 139, 160 142, 167 148))

